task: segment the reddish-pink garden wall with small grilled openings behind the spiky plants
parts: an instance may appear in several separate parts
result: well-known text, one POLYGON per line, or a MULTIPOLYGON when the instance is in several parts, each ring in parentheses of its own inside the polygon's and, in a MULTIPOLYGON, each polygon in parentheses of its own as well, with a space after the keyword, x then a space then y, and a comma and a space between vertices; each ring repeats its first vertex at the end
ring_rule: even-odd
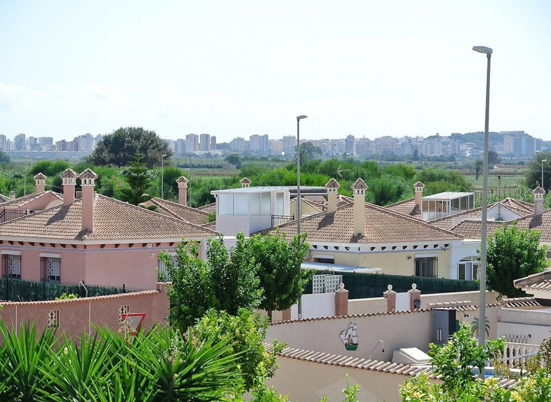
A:
MULTIPOLYGON (((166 324, 165 316, 169 312, 169 298, 163 288, 159 287, 159 289, 161 290, 63 301, 2 303, 4 307, 0 310, 0 318, 8 326, 13 323, 17 327, 20 323, 36 321, 40 333, 47 326, 48 312, 58 310, 60 312, 58 333, 80 336, 83 330, 89 331, 89 323, 107 325, 111 329, 118 330, 120 328, 118 306, 129 305, 130 313, 145 313, 142 325, 148 328, 155 322, 166 324)), ((93 326, 91 330, 93 332, 93 326)))

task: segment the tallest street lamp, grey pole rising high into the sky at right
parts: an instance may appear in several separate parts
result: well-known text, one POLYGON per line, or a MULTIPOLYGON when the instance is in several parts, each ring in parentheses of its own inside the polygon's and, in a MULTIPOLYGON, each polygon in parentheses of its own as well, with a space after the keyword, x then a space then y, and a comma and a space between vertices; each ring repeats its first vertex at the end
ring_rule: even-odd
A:
MULTIPOLYGON (((488 66, 486 72, 486 116, 484 124, 484 165, 483 165, 483 176, 482 176, 482 229, 481 235, 482 238, 480 244, 480 268, 479 268, 479 280, 480 280, 480 303, 479 303, 479 318, 478 323, 482 325, 480 328, 482 330, 479 332, 479 344, 480 346, 486 345, 486 333, 485 333, 485 323, 486 323, 486 248, 487 248, 487 226, 486 222, 488 218, 488 120, 490 116, 490 58, 492 50, 489 47, 485 46, 474 46, 473 50, 479 53, 486 55, 488 59, 488 66)), ((484 379, 484 373, 480 373, 481 378, 484 379)))

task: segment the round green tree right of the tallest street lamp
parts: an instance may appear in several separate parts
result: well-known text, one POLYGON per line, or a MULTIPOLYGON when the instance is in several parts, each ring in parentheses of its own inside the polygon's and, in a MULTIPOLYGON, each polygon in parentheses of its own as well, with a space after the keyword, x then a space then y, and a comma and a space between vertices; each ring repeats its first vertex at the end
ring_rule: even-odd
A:
POLYGON ((488 237, 488 285, 508 297, 526 296, 515 288, 513 281, 542 272, 548 267, 545 261, 547 246, 539 245, 539 231, 518 229, 516 222, 504 224, 488 237))

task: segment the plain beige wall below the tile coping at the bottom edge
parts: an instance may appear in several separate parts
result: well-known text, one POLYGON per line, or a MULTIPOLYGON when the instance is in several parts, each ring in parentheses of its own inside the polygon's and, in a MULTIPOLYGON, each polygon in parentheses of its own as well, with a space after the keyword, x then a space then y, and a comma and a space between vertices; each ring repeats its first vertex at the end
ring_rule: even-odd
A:
POLYGON ((381 373, 358 368, 323 365, 322 363, 279 357, 280 368, 267 384, 289 401, 319 402, 323 395, 329 402, 341 401, 346 386, 346 374, 350 384, 360 385, 357 395, 360 401, 399 401, 399 386, 407 378, 399 374, 381 373))

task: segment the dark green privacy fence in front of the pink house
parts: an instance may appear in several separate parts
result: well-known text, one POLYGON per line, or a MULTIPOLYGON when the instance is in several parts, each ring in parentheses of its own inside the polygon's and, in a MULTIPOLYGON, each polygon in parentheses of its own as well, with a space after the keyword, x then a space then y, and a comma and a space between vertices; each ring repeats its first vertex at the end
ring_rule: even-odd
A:
MULTIPOLYGON (((129 292, 125 287, 105 287, 86 285, 88 296, 104 296, 105 294, 129 292)), ((63 283, 45 281, 24 281, 16 278, 0 278, 0 299, 9 302, 37 302, 53 300, 63 293, 74 293, 85 297, 84 287, 65 285, 63 283)))

